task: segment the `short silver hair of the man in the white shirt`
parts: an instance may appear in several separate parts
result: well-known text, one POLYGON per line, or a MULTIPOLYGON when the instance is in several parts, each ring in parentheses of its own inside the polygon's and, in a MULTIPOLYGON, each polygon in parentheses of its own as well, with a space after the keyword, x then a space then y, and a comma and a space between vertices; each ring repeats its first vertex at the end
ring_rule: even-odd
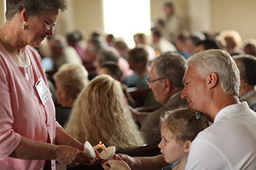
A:
POLYGON ((223 50, 201 51, 188 58, 186 68, 196 66, 201 79, 215 72, 218 75, 220 86, 227 94, 238 96, 240 73, 234 60, 223 50))

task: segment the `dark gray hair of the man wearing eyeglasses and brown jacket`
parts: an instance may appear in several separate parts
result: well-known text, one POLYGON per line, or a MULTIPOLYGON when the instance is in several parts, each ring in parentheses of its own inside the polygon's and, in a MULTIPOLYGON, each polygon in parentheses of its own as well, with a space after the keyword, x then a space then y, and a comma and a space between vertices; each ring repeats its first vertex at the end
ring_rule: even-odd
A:
POLYGON ((183 88, 186 60, 176 52, 166 52, 154 60, 154 72, 159 78, 169 79, 174 86, 183 88))

